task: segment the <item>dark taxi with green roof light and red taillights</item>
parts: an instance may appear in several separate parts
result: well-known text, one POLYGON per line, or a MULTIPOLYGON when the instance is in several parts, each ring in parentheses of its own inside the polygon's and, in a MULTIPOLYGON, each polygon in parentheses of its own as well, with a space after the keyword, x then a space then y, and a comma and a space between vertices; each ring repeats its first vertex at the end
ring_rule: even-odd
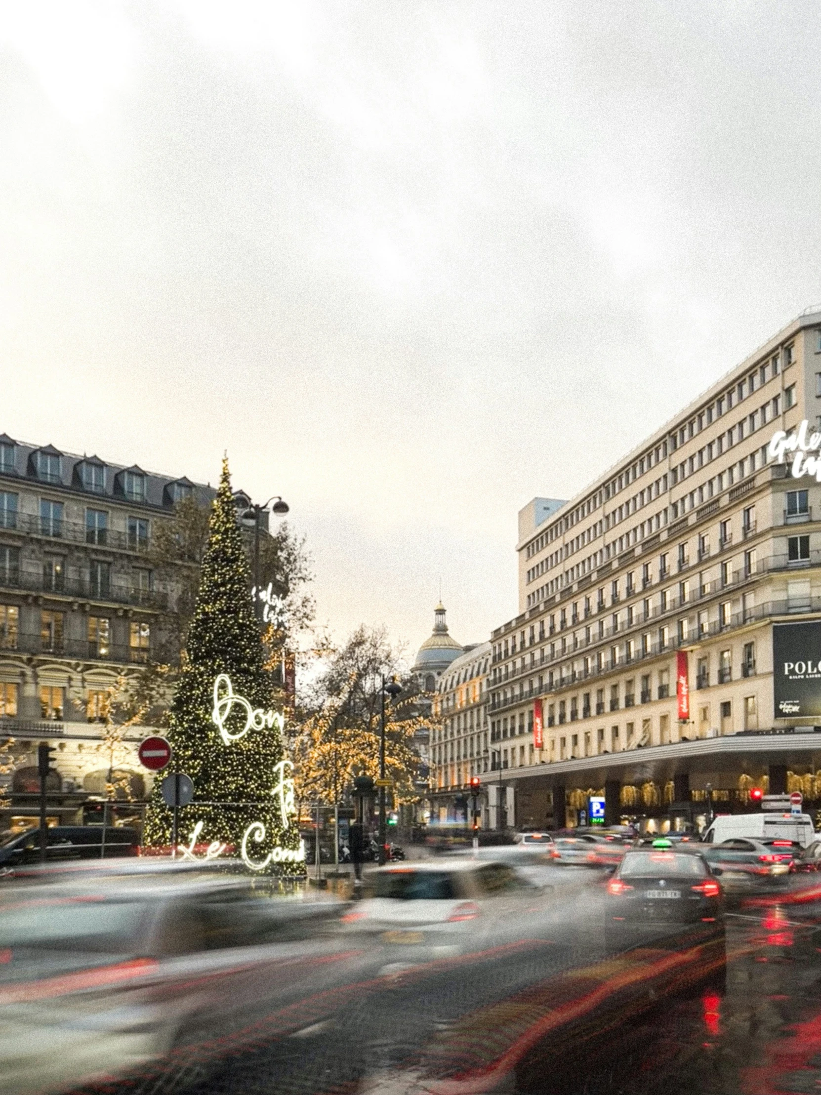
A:
POLYGON ((667 848, 629 849, 606 886, 609 945, 647 942, 695 927, 724 942, 725 899, 703 855, 667 848))

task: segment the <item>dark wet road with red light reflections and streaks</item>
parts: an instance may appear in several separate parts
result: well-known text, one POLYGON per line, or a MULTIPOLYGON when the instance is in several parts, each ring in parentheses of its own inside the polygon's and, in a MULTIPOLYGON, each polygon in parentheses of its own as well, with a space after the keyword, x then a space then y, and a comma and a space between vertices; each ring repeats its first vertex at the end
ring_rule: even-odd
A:
POLYGON ((190 1090, 821 1092, 821 891, 730 913, 726 987, 677 987, 667 967, 658 980, 658 957, 637 970, 608 955, 592 887, 563 899, 552 926, 479 955, 374 966, 190 1090))

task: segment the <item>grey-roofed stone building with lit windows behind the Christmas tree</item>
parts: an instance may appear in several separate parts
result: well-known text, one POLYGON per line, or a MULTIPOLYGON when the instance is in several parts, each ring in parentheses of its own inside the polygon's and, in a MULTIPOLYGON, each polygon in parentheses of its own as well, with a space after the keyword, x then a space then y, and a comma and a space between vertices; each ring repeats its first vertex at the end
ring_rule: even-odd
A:
POLYGON ((57 751, 50 821, 81 820, 113 760, 144 796, 136 744, 146 730, 129 730, 112 758, 104 701, 120 675, 176 660, 178 569, 158 567, 152 544, 177 503, 213 495, 185 477, 0 436, 0 830, 37 811, 41 741, 57 751))

